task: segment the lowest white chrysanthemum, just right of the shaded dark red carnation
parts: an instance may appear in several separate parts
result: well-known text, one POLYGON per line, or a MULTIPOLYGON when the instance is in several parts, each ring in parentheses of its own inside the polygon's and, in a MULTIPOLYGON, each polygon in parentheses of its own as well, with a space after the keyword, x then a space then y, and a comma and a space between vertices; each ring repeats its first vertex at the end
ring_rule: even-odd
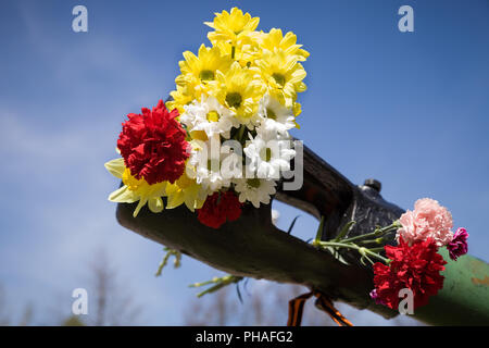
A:
POLYGON ((234 183, 235 191, 239 194, 241 203, 250 201, 254 208, 260 208, 260 203, 268 204, 272 195, 275 195, 275 181, 263 178, 238 178, 234 183))

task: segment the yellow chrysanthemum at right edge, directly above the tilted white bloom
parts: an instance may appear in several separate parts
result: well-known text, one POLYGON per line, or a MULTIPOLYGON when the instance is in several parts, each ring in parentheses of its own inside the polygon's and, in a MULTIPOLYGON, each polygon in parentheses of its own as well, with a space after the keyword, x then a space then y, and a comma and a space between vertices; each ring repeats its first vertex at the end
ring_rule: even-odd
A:
POLYGON ((262 78, 266 82, 268 92, 286 108, 292 108, 297 94, 306 89, 302 82, 305 70, 296 59, 283 49, 264 51, 263 58, 256 61, 262 78))

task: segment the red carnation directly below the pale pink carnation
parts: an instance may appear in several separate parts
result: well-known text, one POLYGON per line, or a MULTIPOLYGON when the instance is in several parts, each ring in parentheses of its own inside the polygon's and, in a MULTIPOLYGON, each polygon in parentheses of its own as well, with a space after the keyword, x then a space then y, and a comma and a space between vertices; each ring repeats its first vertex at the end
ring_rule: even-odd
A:
POLYGON ((386 246, 389 265, 374 264, 375 295, 378 302, 398 309, 399 291, 410 288, 414 295, 414 308, 428 303, 428 298, 443 287, 440 274, 447 263, 437 252, 435 240, 428 238, 411 247, 400 238, 399 246, 386 246))

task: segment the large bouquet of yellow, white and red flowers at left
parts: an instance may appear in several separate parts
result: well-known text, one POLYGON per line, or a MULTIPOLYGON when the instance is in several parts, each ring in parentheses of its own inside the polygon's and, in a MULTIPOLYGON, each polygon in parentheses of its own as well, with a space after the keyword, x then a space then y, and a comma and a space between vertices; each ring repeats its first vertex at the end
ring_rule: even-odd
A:
POLYGON ((269 203, 296 156, 289 130, 309 52, 291 32, 258 32, 259 21, 237 8, 216 13, 205 23, 212 46, 184 52, 172 100, 127 115, 122 158, 105 163, 123 182, 111 201, 138 202, 134 216, 185 203, 214 228, 242 204, 269 203))

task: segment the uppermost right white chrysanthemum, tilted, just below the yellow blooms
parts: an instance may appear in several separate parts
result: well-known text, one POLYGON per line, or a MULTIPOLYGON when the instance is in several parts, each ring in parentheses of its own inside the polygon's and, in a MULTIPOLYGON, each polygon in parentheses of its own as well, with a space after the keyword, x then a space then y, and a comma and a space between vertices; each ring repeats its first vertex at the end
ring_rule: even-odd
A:
POLYGON ((280 134, 287 134, 296 126, 293 111, 285 108, 268 94, 260 100, 258 115, 260 120, 269 120, 267 123, 274 125, 280 134))

